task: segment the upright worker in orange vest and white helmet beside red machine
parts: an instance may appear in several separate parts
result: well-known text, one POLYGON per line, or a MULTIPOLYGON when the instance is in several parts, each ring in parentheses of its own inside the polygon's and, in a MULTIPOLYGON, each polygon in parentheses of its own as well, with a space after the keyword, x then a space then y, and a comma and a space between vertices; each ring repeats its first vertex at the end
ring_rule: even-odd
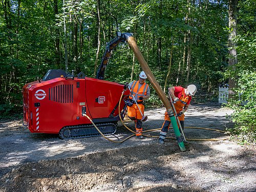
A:
MULTIPOLYGON (((127 106, 127 112, 129 118, 134 121, 135 128, 136 128, 136 136, 139 139, 143 139, 142 136, 142 115, 144 115, 144 100, 150 98, 150 87, 148 84, 145 83, 146 74, 144 71, 141 71, 139 75, 138 81, 133 81, 128 84, 131 89, 129 99, 133 100, 132 106, 127 106), (135 103, 134 99, 136 100, 137 104, 135 103), (139 108, 140 110, 139 110, 139 108), (140 112, 141 111, 141 112, 140 112), (142 113, 142 115, 141 115, 142 113)), ((127 85, 124 85, 124 90, 127 89, 127 85)))

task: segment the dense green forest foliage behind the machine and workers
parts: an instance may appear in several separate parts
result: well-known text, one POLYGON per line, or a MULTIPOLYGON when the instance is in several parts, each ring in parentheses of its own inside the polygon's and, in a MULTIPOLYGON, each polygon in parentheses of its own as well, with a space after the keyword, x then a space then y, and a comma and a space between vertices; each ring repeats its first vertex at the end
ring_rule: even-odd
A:
MULTIPOLYGON (((7 6, 0 6, 1 115, 22 108, 23 85, 42 78, 48 69, 65 69, 64 20, 67 25, 69 69, 74 69, 75 74, 82 71, 87 77, 93 77, 98 42, 96 0, 65 0, 65 5, 62 0, 57 0, 57 5, 50 0, 20 1, 19 10, 17 1, 7 2, 7 6), (55 14, 55 6, 58 7, 58 14, 55 14), (78 61, 74 61, 75 23, 78 27, 78 61), (56 53, 58 39, 59 53, 56 53)), ((228 33, 224 30, 228 23, 226 3, 200 1, 199 4, 198 1, 181 0, 100 1, 100 56, 105 51, 106 42, 113 39, 117 31, 134 33, 142 55, 163 87, 173 45, 167 86, 176 85, 179 77, 178 85, 197 83, 202 90, 212 92, 218 87, 227 66, 228 33), (187 36, 188 32, 190 36, 187 36), (191 40, 191 67, 186 82, 188 40, 191 40)), ((237 50, 240 63, 243 64, 236 66, 238 70, 227 72, 226 77, 237 77, 239 71, 248 71, 248 74, 253 71, 256 62, 253 7, 253 0, 240 1, 238 18, 242 33, 238 34, 237 50)), ((129 45, 120 43, 106 68, 105 80, 125 83, 131 81, 131 76, 133 80, 137 79, 141 67, 135 60, 132 69, 133 56, 129 45)), ((239 77, 249 78, 243 75, 239 77)), ((242 88, 247 91, 247 88, 242 88)), ((247 97, 246 91, 243 91, 241 97, 247 97)), ((211 99, 209 97, 207 100, 211 99)), ((146 105, 162 105, 153 88, 146 105)))

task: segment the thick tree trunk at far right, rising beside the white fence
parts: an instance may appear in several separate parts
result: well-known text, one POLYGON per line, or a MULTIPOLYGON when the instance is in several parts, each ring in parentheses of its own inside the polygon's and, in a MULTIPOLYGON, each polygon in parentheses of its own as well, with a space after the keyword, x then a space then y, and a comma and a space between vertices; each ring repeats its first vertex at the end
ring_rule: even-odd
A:
MULTIPOLYGON (((229 46, 229 59, 228 59, 228 65, 229 67, 235 67, 235 65, 238 63, 237 60, 237 50, 236 50, 236 43, 234 42, 234 38, 237 35, 237 4, 238 0, 229 0, 229 6, 228 6, 228 26, 229 26, 229 34, 228 34, 228 46, 229 46)), ((229 77, 228 80, 229 89, 228 94, 231 96, 234 94, 232 88, 236 86, 236 81, 229 77)))

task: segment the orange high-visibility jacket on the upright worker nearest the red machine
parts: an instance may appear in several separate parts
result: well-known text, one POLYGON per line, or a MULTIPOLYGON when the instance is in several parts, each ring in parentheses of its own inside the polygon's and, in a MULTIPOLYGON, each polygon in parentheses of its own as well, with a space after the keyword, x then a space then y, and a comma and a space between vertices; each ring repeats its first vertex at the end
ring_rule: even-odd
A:
POLYGON ((146 90, 148 88, 148 84, 146 84, 145 82, 141 85, 140 89, 139 89, 139 81, 134 81, 132 86, 131 86, 131 93, 129 95, 129 99, 133 100, 133 96, 135 98, 135 100, 139 103, 139 102, 143 102, 143 100, 139 100, 139 97, 143 97, 146 95, 146 90))

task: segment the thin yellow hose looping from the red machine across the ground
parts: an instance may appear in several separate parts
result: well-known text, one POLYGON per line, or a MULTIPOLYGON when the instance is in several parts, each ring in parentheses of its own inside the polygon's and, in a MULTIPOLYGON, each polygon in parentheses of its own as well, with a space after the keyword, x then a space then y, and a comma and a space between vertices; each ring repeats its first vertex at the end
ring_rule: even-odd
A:
MULTIPOLYGON (((93 123, 92 119, 87 115, 87 114, 83 114, 83 116, 86 116, 90 121, 91 123, 93 124, 93 126, 97 129, 97 131, 105 138, 105 139, 108 139, 109 141, 111 142, 115 142, 115 143, 122 143, 124 142, 125 140, 127 139, 130 139, 131 137, 135 136, 135 131, 131 130, 129 127, 127 127, 124 122, 123 122, 123 119, 121 117, 121 114, 120 114, 120 103, 121 103, 121 100, 122 100, 122 97, 123 97, 123 92, 122 92, 122 95, 120 97, 120 100, 119 100, 119 105, 118 105, 118 110, 119 110, 119 117, 120 117, 120 121, 122 122, 123 126, 128 129, 129 131, 131 131, 132 135, 126 137, 125 139, 123 140, 120 140, 120 141, 115 141, 115 140, 112 140, 108 137, 106 137, 99 129, 98 127, 93 123)), ((221 131, 221 130, 218 130, 218 129, 210 129, 210 128, 203 128, 203 127, 185 127, 186 129, 205 129, 205 130, 210 130, 210 131, 218 131, 218 132, 221 132, 221 133, 225 133, 225 131, 221 131)), ((151 131, 159 131, 161 130, 161 128, 159 129, 151 129, 151 130, 146 130, 146 131, 143 131, 144 133, 146 132, 151 132, 151 131)), ((153 135, 145 135, 145 134, 142 134, 143 136, 145 137, 155 137, 155 138, 159 138, 159 136, 153 136, 153 135)), ((194 141, 217 141, 217 140, 226 140, 226 139, 229 139, 230 135, 228 137, 225 137, 225 138, 221 138, 221 139, 216 139, 216 138, 213 138, 213 139, 197 139, 197 138, 186 138, 186 140, 194 140, 194 141)), ((176 139, 175 137, 165 137, 166 139, 176 139)))

